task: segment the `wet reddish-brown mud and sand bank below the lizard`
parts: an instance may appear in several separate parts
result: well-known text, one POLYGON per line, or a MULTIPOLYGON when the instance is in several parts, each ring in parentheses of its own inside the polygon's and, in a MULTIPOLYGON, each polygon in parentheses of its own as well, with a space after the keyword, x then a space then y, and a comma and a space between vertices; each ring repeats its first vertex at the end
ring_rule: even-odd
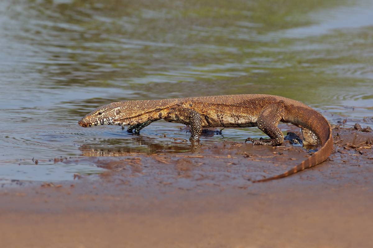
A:
POLYGON ((329 160, 266 183, 250 179, 288 170, 307 151, 225 142, 198 154, 65 161, 110 170, 0 188, 0 247, 373 247, 373 149, 360 148, 372 132, 333 135, 329 160))

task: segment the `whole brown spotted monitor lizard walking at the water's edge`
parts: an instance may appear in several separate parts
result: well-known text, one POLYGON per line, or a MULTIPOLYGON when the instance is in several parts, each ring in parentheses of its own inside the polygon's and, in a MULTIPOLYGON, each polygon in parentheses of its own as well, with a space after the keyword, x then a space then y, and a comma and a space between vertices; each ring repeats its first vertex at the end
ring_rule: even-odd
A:
MULTIPOLYGON (((307 105, 280 96, 242 94, 138 100, 110 103, 93 110, 78 123, 83 127, 129 125, 128 132, 139 133, 151 122, 164 119, 191 127, 191 141, 197 141, 202 128, 257 126, 269 139, 247 138, 254 145, 281 145, 283 134, 278 123, 292 123, 302 129, 303 146, 322 148, 289 171, 263 182, 286 177, 325 161, 333 149, 332 130, 323 115, 307 105)), ((245 141, 245 142, 246 142, 245 141)))

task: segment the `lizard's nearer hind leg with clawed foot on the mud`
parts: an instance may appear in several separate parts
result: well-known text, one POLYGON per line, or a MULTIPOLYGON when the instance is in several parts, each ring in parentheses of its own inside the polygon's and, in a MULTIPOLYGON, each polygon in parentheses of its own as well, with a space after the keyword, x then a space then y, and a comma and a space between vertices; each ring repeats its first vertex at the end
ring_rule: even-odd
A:
POLYGON ((247 138, 245 142, 251 141, 254 145, 281 145, 283 133, 277 127, 282 118, 283 102, 273 103, 266 107, 257 120, 258 128, 269 136, 269 139, 247 138))

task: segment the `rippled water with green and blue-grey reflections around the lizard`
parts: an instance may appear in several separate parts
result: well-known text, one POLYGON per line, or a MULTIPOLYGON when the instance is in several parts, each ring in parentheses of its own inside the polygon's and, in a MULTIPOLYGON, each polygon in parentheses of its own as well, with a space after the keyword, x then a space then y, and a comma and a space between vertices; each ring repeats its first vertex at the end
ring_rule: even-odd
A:
MULTIPOLYGON (((55 164, 67 157, 190 151, 180 124, 140 136, 77 125, 120 100, 277 94, 331 123, 372 117, 372 13, 363 0, 0 1, 0 178, 102 170, 55 164)), ((261 135, 224 129, 201 141, 261 135)))

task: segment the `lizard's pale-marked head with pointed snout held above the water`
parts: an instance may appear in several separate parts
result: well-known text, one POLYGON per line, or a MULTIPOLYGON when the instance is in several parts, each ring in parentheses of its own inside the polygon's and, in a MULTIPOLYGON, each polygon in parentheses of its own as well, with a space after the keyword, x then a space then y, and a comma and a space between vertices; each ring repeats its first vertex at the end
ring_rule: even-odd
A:
POLYGON ((122 107, 117 103, 110 103, 94 109, 79 120, 78 124, 85 128, 98 125, 122 125, 122 115, 122 107))

